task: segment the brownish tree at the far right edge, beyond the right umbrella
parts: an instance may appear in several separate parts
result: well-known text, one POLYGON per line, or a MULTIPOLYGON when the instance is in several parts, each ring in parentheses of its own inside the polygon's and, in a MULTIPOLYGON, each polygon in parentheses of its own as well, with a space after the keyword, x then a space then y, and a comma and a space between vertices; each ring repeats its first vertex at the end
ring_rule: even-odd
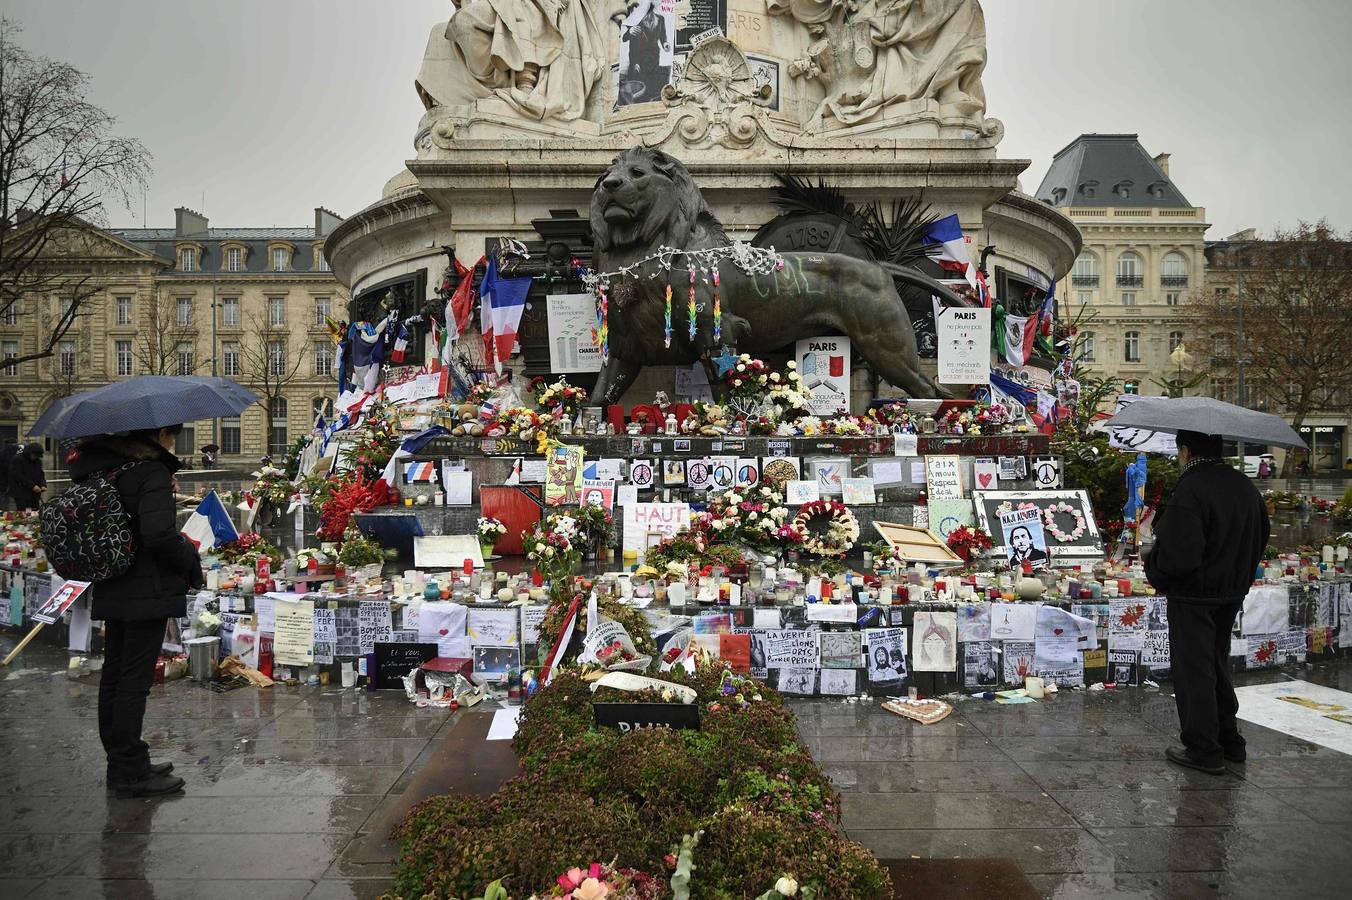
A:
POLYGON ((1217 243, 1209 265, 1213 282, 1229 282, 1201 311, 1203 334, 1215 341, 1213 370, 1261 385, 1297 428, 1313 412, 1344 408, 1352 234, 1302 222, 1271 239, 1217 243))

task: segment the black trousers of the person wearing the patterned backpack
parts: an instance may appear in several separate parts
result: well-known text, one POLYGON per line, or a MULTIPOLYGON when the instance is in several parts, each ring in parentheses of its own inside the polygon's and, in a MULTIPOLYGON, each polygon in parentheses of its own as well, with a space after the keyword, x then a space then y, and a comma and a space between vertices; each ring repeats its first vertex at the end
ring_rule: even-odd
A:
POLYGON ((99 739, 108 755, 110 781, 139 781, 150 772, 150 747, 141 739, 141 724, 155 678, 165 622, 105 623, 103 677, 99 680, 99 739))

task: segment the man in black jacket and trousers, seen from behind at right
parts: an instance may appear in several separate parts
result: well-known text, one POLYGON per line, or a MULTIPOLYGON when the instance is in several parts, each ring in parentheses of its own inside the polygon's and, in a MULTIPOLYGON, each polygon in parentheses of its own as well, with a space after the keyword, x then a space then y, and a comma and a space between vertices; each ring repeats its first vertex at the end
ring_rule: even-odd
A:
POLYGON ((1182 747, 1171 762, 1224 774, 1244 762, 1240 709, 1230 682, 1230 630, 1267 547, 1267 507, 1257 488, 1221 461, 1221 438, 1179 431, 1183 474, 1155 526, 1145 574, 1168 597, 1169 672, 1182 747))

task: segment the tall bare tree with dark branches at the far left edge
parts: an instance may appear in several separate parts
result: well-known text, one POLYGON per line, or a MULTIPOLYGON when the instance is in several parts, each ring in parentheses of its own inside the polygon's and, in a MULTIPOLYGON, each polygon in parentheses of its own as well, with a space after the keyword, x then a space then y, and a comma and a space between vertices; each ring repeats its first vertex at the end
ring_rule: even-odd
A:
POLYGON ((95 296, 88 274, 53 264, 78 255, 87 224, 103 224, 111 200, 124 205, 150 174, 139 141, 112 134, 114 119, 85 97, 89 78, 34 57, 0 18, 0 315, 31 297, 65 301, 38 347, 15 362, 50 357, 80 308, 95 296))

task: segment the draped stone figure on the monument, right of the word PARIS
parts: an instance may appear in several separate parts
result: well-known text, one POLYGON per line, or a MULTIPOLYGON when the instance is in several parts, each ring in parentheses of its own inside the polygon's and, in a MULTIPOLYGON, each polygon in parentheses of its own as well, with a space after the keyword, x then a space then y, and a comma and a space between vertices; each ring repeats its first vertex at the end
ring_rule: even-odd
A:
POLYGON ((765 0, 803 23, 814 42, 790 74, 818 78, 826 97, 806 124, 853 126, 886 107, 933 100, 941 116, 986 112, 986 16, 977 0, 765 0))

